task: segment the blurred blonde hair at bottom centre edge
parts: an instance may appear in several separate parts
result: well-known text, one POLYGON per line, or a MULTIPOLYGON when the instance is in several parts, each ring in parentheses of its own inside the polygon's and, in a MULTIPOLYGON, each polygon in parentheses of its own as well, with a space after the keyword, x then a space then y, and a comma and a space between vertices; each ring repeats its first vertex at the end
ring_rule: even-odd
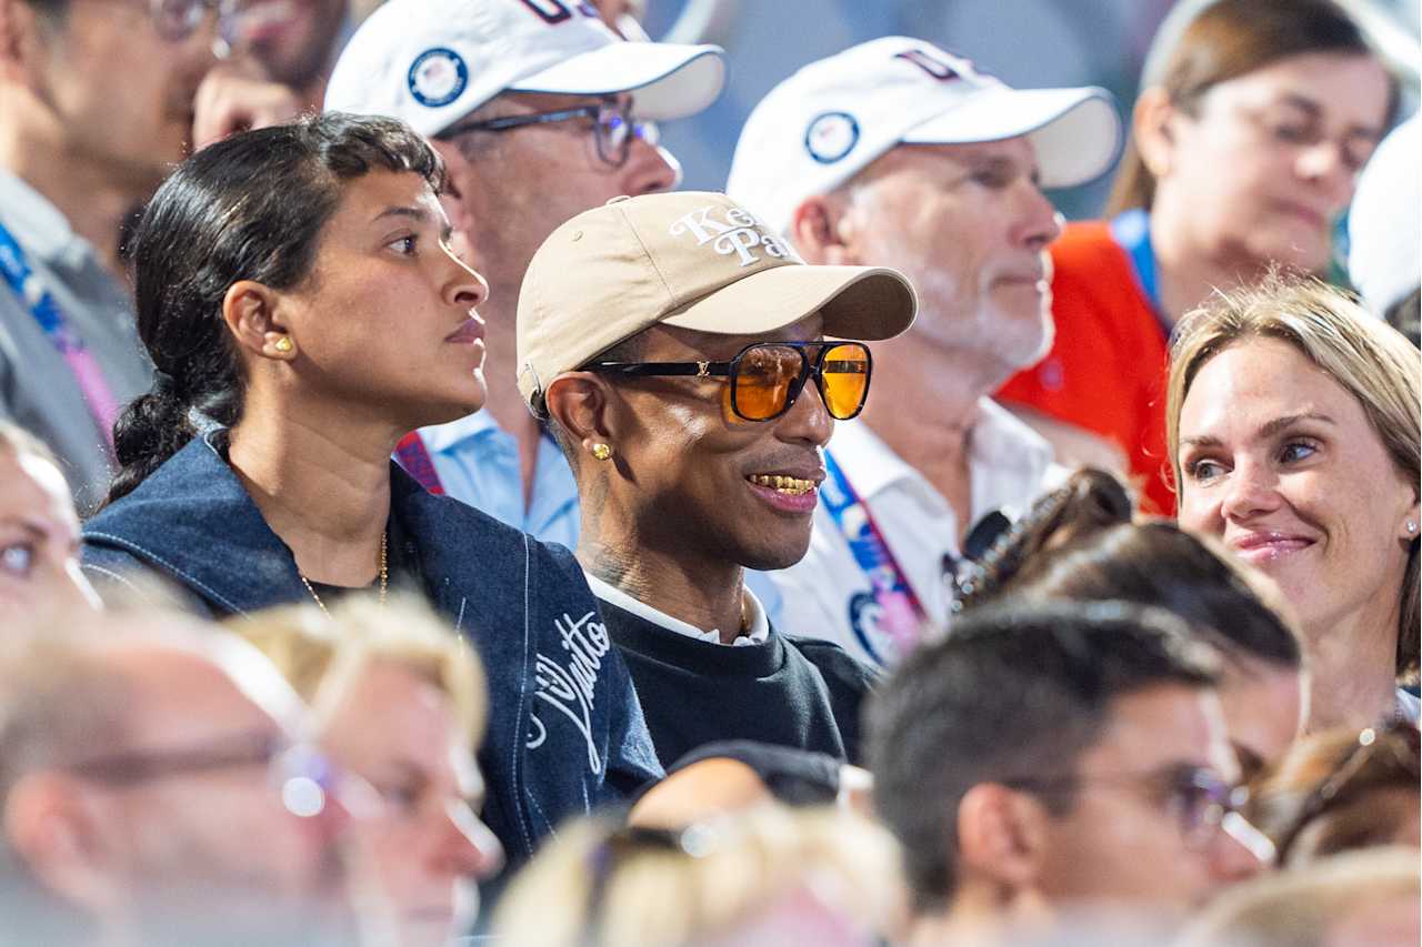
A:
POLYGON ((637 842, 654 832, 597 819, 563 828, 499 901, 498 940, 520 947, 693 944, 734 934, 806 887, 866 934, 902 917, 897 846, 884 829, 843 809, 765 805, 663 836, 681 839, 680 846, 637 842))

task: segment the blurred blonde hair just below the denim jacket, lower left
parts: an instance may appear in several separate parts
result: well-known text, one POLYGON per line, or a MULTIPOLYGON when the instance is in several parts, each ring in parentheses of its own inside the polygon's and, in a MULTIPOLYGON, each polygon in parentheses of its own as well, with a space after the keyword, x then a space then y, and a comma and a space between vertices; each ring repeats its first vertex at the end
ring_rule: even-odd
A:
POLYGON ((371 661, 391 661, 439 688, 471 748, 483 737, 488 688, 469 644, 419 599, 378 604, 353 594, 330 616, 314 604, 279 606, 226 627, 267 656, 317 719, 328 717, 371 661))

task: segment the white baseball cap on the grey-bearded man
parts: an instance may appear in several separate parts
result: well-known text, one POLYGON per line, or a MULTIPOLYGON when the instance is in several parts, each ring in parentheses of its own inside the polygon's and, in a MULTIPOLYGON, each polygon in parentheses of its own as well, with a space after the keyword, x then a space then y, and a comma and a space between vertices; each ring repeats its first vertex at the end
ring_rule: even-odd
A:
POLYGON ((892 36, 811 63, 771 90, 741 129, 727 193, 785 232, 805 198, 894 145, 1020 135, 1037 148, 1047 188, 1099 176, 1123 141, 1103 88, 1014 90, 930 43, 892 36))

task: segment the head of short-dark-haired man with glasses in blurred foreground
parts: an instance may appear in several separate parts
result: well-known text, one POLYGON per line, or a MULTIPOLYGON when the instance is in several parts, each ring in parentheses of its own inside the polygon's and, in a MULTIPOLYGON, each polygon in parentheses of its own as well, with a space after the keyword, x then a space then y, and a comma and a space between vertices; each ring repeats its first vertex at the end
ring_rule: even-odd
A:
POLYGON ((987 607, 910 656, 867 739, 924 943, 1167 917, 1253 873, 1221 828, 1256 840, 1216 665, 1173 616, 1119 603, 987 607))

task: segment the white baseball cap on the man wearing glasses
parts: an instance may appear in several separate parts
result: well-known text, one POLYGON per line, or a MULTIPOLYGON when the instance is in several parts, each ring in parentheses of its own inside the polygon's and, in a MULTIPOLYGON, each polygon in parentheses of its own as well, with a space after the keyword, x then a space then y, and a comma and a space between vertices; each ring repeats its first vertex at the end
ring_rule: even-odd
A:
POLYGON ((638 118, 721 94, 718 46, 626 43, 577 0, 387 0, 341 50, 326 111, 390 115, 437 135, 501 92, 633 92, 638 118))

